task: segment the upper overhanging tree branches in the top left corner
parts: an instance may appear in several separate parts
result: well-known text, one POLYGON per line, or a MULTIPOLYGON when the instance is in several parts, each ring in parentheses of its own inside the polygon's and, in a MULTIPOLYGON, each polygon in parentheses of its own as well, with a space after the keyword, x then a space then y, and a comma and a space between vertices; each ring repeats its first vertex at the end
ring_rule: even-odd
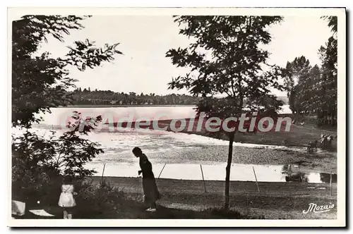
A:
POLYGON ((36 113, 50 111, 55 106, 71 102, 65 92, 75 87, 68 66, 79 70, 100 66, 112 61, 118 44, 106 44, 96 48, 93 42, 75 42, 64 58, 52 58, 49 52, 37 54, 40 44, 52 36, 64 42, 71 30, 80 30, 80 21, 87 17, 77 16, 23 16, 13 21, 12 30, 12 125, 29 128, 40 118, 36 113))

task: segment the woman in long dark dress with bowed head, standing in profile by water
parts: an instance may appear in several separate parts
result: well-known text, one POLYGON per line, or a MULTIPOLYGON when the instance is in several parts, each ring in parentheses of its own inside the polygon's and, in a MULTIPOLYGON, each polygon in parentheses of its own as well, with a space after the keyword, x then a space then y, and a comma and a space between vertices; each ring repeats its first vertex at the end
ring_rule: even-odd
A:
POLYGON ((138 175, 142 173, 143 193, 145 195, 145 204, 148 205, 146 211, 156 211, 155 202, 160 199, 160 192, 158 192, 157 185, 155 184, 155 175, 152 172, 152 164, 148 161, 147 156, 143 154, 139 147, 133 148, 133 154, 140 158, 140 168, 138 175))

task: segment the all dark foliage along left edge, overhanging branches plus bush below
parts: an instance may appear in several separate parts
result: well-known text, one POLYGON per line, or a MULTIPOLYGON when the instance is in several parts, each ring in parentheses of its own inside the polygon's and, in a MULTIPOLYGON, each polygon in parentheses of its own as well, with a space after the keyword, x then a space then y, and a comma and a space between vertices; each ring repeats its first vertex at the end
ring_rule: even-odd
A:
MULTIPOLYGON (((80 30, 82 20, 77 16, 23 16, 13 21, 12 31, 12 125, 25 128, 25 133, 12 140, 12 181, 15 195, 30 195, 60 175, 89 176, 94 171, 84 168, 97 154, 99 144, 80 137, 102 120, 100 116, 88 120, 76 118, 75 126, 68 123, 68 131, 59 136, 54 131, 39 136, 30 128, 39 123, 37 113, 50 112, 50 108, 71 103, 66 90, 75 87, 68 66, 79 70, 100 66, 121 54, 118 44, 96 48, 85 39, 68 47, 63 58, 53 58, 49 52, 39 53, 47 37, 64 42, 71 30, 80 30), (79 126, 83 126, 79 128, 79 126), (28 191, 28 192, 26 192, 28 191)), ((75 113, 73 116, 77 116, 75 113)))

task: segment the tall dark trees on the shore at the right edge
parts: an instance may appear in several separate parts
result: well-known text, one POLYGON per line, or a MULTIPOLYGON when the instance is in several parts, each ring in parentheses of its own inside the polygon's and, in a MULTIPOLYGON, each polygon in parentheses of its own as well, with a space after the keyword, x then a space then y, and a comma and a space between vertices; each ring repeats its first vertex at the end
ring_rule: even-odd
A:
POLYGON ((324 17, 333 35, 318 49, 321 67, 304 56, 287 62, 289 106, 299 116, 318 117, 318 125, 337 125, 337 17, 324 17))

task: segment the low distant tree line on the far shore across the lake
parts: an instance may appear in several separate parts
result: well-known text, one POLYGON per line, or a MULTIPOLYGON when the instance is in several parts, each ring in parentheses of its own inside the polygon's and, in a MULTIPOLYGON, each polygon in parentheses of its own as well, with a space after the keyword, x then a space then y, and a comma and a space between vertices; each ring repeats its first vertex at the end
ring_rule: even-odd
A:
POLYGON ((136 94, 135 92, 112 92, 110 90, 90 90, 78 88, 71 93, 71 104, 83 105, 195 105, 198 97, 186 94, 156 95, 136 94))

